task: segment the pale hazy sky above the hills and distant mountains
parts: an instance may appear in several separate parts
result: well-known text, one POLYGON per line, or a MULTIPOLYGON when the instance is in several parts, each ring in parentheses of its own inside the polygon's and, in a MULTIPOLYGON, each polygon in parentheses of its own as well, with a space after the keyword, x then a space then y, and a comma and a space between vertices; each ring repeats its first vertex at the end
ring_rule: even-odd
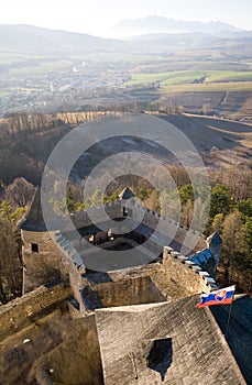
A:
POLYGON ((32 24, 95 35, 108 35, 120 20, 150 14, 220 20, 252 30, 252 0, 0 0, 0 6, 1 24, 32 24))

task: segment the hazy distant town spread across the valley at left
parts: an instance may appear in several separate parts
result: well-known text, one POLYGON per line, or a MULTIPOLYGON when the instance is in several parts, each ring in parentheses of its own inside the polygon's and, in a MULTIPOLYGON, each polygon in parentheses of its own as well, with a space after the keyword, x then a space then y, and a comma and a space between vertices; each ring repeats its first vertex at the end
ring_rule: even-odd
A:
POLYGON ((61 73, 2 76, 0 110, 2 114, 36 109, 51 111, 52 106, 55 110, 64 106, 75 110, 95 97, 99 103, 99 97, 108 97, 129 79, 128 72, 120 66, 85 62, 61 73))

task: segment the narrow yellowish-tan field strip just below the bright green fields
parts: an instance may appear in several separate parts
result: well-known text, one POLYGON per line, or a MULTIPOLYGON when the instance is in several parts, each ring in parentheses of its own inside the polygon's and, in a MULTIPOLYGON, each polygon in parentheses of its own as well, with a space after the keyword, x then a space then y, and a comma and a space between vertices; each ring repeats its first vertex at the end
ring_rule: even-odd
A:
POLYGON ((204 82, 204 84, 183 84, 161 86, 160 94, 179 94, 179 92, 210 92, 210 91, 252 91, 252 81, 224 81, 224 82, 204 82))

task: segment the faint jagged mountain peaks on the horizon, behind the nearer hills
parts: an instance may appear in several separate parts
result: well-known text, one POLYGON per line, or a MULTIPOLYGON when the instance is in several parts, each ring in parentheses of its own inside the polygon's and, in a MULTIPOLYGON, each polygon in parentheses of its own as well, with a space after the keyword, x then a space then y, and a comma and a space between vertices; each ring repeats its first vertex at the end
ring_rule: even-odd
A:
POLYGON ((209 34, 220 34, 223 32, 239 32, 242 30, 220 21, 210 21, 202 23, 200 21, 174 20, 163 16, 150 15, 144 19, 122 20, 120 23, 114 25, 112 31, 119 33, 120 35, 132 36, 156 32, 205 32, 209 34))

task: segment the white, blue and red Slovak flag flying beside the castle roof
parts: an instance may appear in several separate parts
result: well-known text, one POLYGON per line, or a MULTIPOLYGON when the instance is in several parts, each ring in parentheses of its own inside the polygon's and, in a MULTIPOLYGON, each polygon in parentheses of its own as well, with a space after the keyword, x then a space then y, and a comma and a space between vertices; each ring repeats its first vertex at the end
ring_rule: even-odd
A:
POLYGON ((200 296, 200 302, 197 304, 196 307, 201 308, 204 306, 232 304, 234 290, 235 286, 233 285, 209 294, 202 294, 200 296))

